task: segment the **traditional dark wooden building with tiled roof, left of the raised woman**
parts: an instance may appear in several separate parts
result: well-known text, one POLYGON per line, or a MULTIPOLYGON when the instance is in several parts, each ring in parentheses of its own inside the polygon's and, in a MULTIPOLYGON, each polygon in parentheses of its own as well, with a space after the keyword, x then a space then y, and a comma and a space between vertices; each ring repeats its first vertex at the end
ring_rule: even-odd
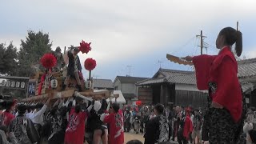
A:
POLYGON ((207 92, 198 90, 193 71, 159 69, 153 78, 136 84, 138 99, 145 104, 174 103, 178 106, 206 106, 207 92))

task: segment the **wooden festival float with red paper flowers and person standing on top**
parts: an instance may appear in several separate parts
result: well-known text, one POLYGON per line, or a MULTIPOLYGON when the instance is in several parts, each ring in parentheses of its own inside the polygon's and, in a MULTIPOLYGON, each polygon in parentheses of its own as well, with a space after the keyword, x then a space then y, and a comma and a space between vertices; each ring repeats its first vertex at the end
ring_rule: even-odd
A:
POLYGON ((91 50, 90 44, 82 41, 80 46, 71 46, 68 50, 65 47, 64 54, 61 53, 59 47, 54 53, 44 54, 40 59, 40 65, 44 67, 45 71, 38 70, 34 75, 30 76, 27 98, 21 101, 38 102, 50 97, 58 99, 72 96, 87 101, 107 98, 110 98, 110 102, 112 102, 112 98, 115 98, 116 101, 118 94, 113 94, 110 90, 98 92, 93 90, 91 72, 96 67, 96 61, 93 58, 87 58, 83 62, 84 68, 89 71, 89 77, 86 80, 82 75, 82 70, 75 70, 76 68, 74 68, 77 65, 81 66, 80 60, 74 55, 74 52, 88 54, 91 50), (70 71, 72 74, 70 74, 70 71), (77 76, 74 76, 76 75, 74 73, 77 76))

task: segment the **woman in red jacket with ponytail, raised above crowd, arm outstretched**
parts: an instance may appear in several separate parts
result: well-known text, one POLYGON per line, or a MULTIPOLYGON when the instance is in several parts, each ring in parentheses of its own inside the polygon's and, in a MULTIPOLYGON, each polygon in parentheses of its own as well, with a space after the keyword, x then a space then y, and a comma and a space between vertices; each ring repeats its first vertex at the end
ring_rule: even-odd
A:
POLYGON ((231 27, 222 29, 216 39, 218 55, 187 56, 194 63, 198 90, 209 90, 210 105, 202 127, 202 140, 235 143, 242 118, 242 91, 238 63, 232 53, 242 54, 242 33, 231 27))

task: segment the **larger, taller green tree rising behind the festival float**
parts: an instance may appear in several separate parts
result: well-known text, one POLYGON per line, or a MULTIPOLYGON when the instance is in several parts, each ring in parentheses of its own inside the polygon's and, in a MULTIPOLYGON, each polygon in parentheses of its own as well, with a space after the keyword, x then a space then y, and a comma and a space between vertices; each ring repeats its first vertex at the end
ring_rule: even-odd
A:
POLYGON ((42 31, 35 33, 28 31, 26 41, 22 40, 21 48, 18 51, 18 76, 29 77, 34 72, 32 65, 40 63, 43 54, 51 52, 52 42, 50 42, 49 34, 42 31))

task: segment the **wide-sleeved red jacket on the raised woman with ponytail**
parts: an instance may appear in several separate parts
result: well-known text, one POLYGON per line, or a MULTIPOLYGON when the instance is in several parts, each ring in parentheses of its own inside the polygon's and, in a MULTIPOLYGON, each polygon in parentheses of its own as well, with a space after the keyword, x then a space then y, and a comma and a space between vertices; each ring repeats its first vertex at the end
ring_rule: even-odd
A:
POLYGON ((226 46, 218 55, 199 55, 193 58, 199 90, 209 90, 208 83, 217 84, 217 89, 210 93, 213 102, 230 111, 234 122, 242 114, 242 91, 238 82, 238 63, 230 47, 226 46))

